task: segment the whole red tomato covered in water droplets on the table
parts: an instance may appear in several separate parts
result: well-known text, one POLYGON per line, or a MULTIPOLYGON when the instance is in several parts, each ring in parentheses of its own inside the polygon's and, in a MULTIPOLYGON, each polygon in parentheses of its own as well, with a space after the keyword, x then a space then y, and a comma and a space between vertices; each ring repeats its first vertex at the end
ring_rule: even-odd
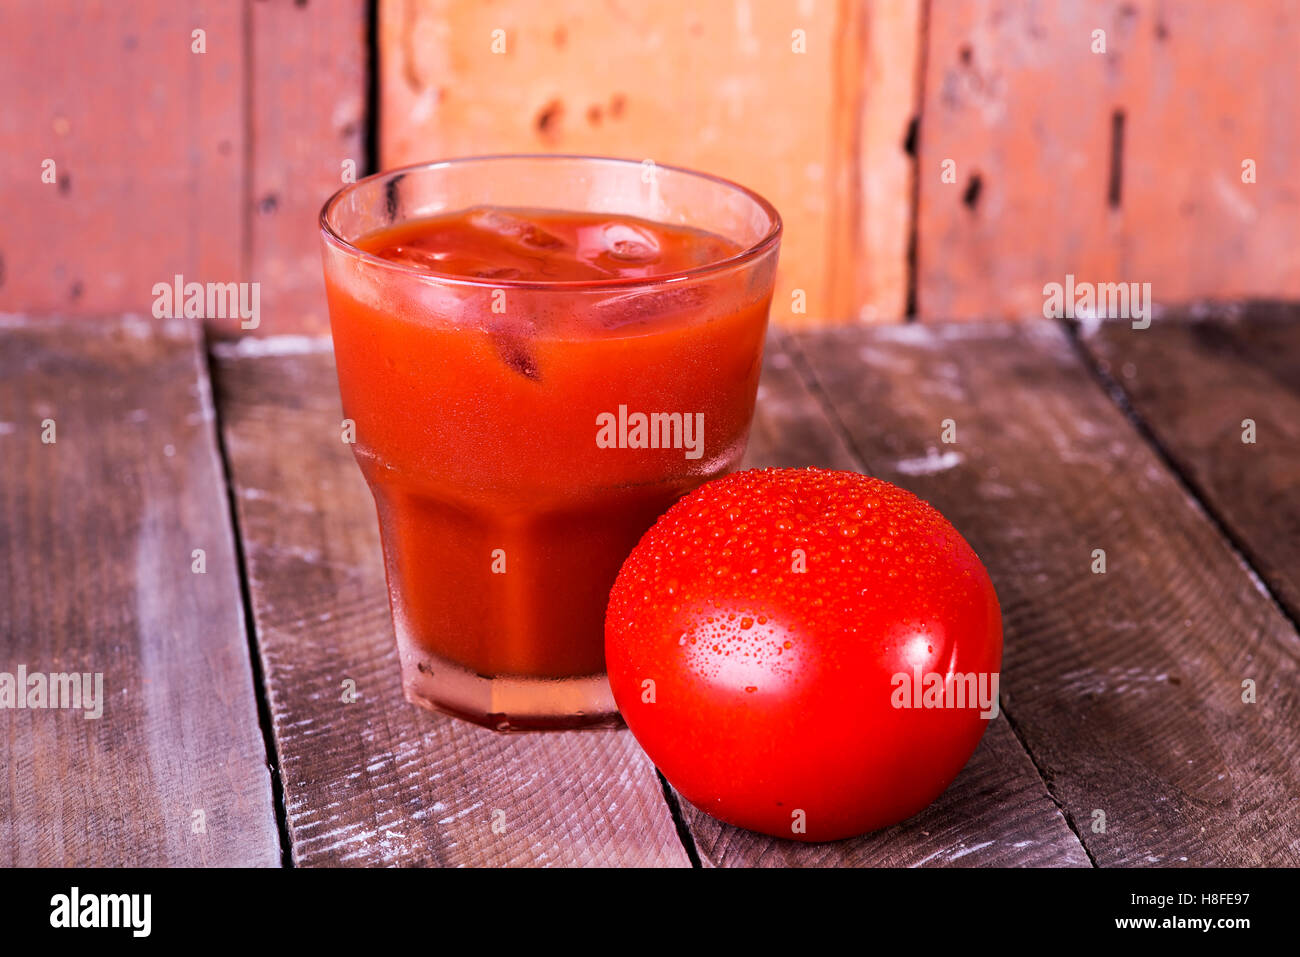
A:
POLYGON ((1001 659, 971 546, 854 472, 703 485, 646 532, 606 615, 614 697, 668 781, 715 818, 806 841, 933 801, 996 714, 1001 659))

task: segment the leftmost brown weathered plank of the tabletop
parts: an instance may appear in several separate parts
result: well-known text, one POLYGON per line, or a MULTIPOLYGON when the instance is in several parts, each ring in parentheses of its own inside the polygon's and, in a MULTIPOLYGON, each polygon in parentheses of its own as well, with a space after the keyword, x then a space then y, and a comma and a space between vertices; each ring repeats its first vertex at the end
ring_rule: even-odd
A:
POLYGON ((0 710, 0 863, 278 865, 198 326, 0 319, 0 671, 103 675, 0 710))

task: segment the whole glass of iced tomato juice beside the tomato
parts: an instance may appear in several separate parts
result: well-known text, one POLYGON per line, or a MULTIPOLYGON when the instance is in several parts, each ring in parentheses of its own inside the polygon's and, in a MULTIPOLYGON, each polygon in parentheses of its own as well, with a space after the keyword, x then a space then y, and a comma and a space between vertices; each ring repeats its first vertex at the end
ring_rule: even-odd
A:
POLYGON ((718 177, 547 155, 380 173, 320 221, 406 697, 618 726, 610 588, 745 451, 780 216, 718 177))

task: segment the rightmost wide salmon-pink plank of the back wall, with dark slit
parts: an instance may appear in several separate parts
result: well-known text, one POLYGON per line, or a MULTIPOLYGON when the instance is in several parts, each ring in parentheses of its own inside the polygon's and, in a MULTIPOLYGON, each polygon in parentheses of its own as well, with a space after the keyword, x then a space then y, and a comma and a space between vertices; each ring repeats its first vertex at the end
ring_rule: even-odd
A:
POLYGON ((1294 4, 933 3, 928 38, 922 317, 1043 316, 1066 273, 1300 296, 1294 4))

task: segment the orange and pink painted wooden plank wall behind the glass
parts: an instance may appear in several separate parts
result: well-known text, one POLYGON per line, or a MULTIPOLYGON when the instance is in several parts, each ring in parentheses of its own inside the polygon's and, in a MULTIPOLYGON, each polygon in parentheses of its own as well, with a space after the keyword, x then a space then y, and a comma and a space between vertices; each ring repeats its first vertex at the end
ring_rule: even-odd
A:
POLYGON ((1041 315, 1066 273, 1300 298, 1295 0, 9 0, 0 36, 0 312, 181 273, 324 333, 316 215, 368 134, 745 182, 796 325, 1041 315))

